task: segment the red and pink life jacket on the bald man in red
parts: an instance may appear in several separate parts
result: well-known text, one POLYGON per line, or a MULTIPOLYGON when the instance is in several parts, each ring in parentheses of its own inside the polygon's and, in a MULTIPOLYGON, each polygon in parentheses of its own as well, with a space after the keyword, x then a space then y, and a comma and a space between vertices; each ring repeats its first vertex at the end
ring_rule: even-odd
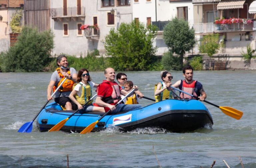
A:
MULTIPOLYGON (((111 96, 103 97, 102 101, 104 101, 105 103, 108 103, 108 104, 115 105, 119 100, 121 100, 119 85, 117 83, 112 83, 110 81, 103 81, 101 84, 103 84, 103 83, 110 84, 113 91, 112 91, 111 96)), ((99 84, 97 87, 99 87, 101 84, 99 84)))

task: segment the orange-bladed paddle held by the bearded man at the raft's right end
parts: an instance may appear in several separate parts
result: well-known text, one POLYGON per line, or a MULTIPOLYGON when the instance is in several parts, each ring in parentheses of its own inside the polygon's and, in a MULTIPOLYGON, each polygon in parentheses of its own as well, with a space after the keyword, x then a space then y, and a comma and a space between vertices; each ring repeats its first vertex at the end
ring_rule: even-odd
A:
MULTIPOLYGON (((185 93, 185 94, 187 94, 187 95, 190 95, 190 96, 192 96, 192 97, 195 97, 196 99, 199 99, 197 96, 194 96, 194 95, 192 95, 192 94, 189 94, 189 93, 187 93, 187 92, 185 92, 185 91, 183 91, 183 90, 180 90, 180 89, 178 89, 178 88, 176 88, 176 87, 173 87, 173 86, 170 86, 171 88, 173 88, 173 89, 175 89, 175 90, 178 90, 178 91, 181 91, 181 92, 183 92, 183 93, 185 93)), ((204 102, 206 102, 206 103, 208 103, 208 104, 211 104, 211 105, 213 105, 213 106, 215 106, 215 107, 218 107, 218 108, 220 108, 220 110, 224 113, 224 114, 226 114, 226 115, 228 115, 228 116, 230 116, 230 117, 233 117, 233 118, 235 118, 235 119, 240 119, 242 116, 243 116, 243 112, 242 111, 239 111, 239 110, 237 110, 237 109, 235 109, 235 108, 232 108, 232 107, 221 107, 221 106, 218 106, 218 105, 216 105, 216 104, 213 104, 213 103, 211 103, 211 102, 209 102, 209 101, 207 101, 207 100, 203 100, 204 102)))

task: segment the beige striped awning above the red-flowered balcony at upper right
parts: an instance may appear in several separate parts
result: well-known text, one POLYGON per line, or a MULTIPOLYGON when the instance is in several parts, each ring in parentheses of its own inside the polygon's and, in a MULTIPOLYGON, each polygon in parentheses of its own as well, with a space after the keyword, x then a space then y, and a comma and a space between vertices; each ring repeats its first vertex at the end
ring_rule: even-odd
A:
POLYGON ((244 8, 245 0, 221 0, 217 5, 217 10, 244 8))

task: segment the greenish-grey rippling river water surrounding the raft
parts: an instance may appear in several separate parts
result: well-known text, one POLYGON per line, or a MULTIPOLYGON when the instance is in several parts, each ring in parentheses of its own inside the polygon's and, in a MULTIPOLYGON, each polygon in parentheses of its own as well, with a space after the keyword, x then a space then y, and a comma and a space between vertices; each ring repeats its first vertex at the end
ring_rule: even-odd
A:
MULTIPOLYGON (((36 121, 31 133, 17 130, 33 119, 46 100, 52 73, 0 73, 0 167, 93 168, 245 168, 256 167, 256 71, 194 71, 207 93, 207 100, 244 112, 240 120, 225 115, 219 108, 203 102, 212 114, 212 129, 195 132, 157 132, 145 128, 120 133, 116 129, 80 135, 78 133, 39 132, 36 121), (154 149, 153 149, 154 146, 154 149), (154 155, 155 152, 155 155, 154 155), (157 159, 156 159, 157 157, 157 159), (159 164, 158 164, 159 161, 159 164)), ((126 72, 128 80, 153 98, 160 72, 126 72)), ((103 72, 90 73, 93 82, 104 79, 103 72)), ((183 79, 172 72, 173 82, 183 79)), ((152 101, 139 99, 142 105, 152 101)))

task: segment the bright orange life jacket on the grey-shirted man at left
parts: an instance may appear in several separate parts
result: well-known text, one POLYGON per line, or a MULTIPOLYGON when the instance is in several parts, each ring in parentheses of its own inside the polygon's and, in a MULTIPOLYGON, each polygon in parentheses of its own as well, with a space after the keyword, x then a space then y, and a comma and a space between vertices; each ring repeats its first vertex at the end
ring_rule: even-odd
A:
MULTIPOLYGON (((60 77, 60 82, 53 86, 53 92, 55 89, 62 83, 62 81, 65 79, 64 76, 60 72, 60 68, 57 68, 56 71, 58 72, 58 75, 60 77)), ((70 75, 69 68, 67 68, 67 73, 70 75)), ((62 86, 59 88, 60 92, 66 92, 66 91, 72 91, 74 82, 72 80, 66 79, 66 81, 62 84, 62 86)))

